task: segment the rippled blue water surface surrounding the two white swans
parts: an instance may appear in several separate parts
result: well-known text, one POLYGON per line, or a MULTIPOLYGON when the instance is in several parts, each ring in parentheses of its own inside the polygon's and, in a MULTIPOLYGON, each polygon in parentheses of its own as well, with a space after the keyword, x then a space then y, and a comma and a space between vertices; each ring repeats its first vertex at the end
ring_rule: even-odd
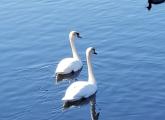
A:
POLYGON ((90 104, 62 110, 68 82, 55 84, 57 63, 76 41, 87 79, 85 50, 98 83, 99 120, 164 120, 165 4, 147 1, 1 0, 0 118, 2 120, 90 120, 90 104))

